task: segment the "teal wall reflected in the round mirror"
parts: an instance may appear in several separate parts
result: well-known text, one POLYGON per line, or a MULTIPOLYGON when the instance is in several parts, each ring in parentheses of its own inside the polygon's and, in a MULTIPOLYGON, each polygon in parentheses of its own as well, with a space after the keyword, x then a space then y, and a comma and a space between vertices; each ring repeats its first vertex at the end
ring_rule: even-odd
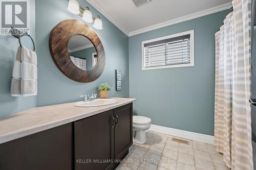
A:
POLYGON ((93 62, 92 54, 93 53, 96 53, 95 47, 90 47, 90 48, 86 48, 83 50, 79 50, 79 51, 71 53, 70 55, 74 56, 74 57, 81 57, 81 58, 86 59, 86 69, 90 70, 90 69, 92 69, 92 65, 93 65, 92 64, 92 62, 93 62))

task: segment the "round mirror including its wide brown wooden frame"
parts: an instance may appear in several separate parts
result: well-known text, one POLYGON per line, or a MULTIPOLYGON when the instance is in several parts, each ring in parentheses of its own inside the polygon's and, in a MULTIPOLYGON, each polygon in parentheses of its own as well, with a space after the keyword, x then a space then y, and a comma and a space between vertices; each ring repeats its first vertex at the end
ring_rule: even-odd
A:
POLYGON ((59 22, 51 31, 49 47, 58 69, 74 81, 93 82, 104 70, 103 44, 93 29, 82 21, 59 22))

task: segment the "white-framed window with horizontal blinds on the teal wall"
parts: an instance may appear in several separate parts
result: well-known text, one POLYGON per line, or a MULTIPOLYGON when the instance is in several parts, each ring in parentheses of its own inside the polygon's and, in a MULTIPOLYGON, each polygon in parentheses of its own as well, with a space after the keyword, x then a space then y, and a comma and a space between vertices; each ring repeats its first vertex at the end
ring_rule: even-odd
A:
POLYGON ((194 30, 142 42, 142 70, 194 66, 194 30))

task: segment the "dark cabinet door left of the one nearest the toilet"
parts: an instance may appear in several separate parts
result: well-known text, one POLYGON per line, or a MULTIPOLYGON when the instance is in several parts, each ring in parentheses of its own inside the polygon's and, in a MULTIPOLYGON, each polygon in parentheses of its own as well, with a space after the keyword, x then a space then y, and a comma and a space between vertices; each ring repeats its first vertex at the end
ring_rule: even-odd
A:
POLYGON ((75 169, 112 169, 113 133, 114 110, 75 122, 75 169))

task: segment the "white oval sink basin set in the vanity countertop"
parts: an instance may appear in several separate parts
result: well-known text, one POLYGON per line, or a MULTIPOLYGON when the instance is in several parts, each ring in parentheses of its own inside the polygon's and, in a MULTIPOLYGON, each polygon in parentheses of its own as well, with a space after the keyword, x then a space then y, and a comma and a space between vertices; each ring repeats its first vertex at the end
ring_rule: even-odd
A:
POLYGON ((77 107, 97 107, 97 106, 106 106, 117 103, 115 99, 95 99, 94 101, 89 102, 77 102, 75 106, 77 107))

